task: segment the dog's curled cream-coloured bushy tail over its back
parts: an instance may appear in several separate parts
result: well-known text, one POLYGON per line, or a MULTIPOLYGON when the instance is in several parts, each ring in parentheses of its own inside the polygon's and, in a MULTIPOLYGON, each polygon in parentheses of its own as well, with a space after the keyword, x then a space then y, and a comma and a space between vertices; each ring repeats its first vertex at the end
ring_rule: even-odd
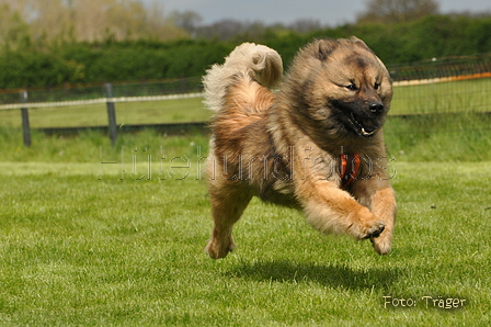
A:
POLYGON ((224 65, 215 64, 206 71, 203 77, 204 103, 218 112, 227 89, 239 79, 250 77, 266 88, 273 88, 282 75, 283 61, 277 52, 264 45, 243 43, 225 58, 224 65))

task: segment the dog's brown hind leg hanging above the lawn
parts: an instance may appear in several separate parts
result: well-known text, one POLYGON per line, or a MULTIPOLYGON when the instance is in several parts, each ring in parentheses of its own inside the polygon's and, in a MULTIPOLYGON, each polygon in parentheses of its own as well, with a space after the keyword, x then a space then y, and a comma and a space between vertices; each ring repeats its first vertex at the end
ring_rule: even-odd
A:
POLYGON ((210 189, 212 212, 214 219, 213 236, 206 246, 213 259, 225 258, 233 251, 232 228, 252 199, 247 190, 222 188, 210 189))

